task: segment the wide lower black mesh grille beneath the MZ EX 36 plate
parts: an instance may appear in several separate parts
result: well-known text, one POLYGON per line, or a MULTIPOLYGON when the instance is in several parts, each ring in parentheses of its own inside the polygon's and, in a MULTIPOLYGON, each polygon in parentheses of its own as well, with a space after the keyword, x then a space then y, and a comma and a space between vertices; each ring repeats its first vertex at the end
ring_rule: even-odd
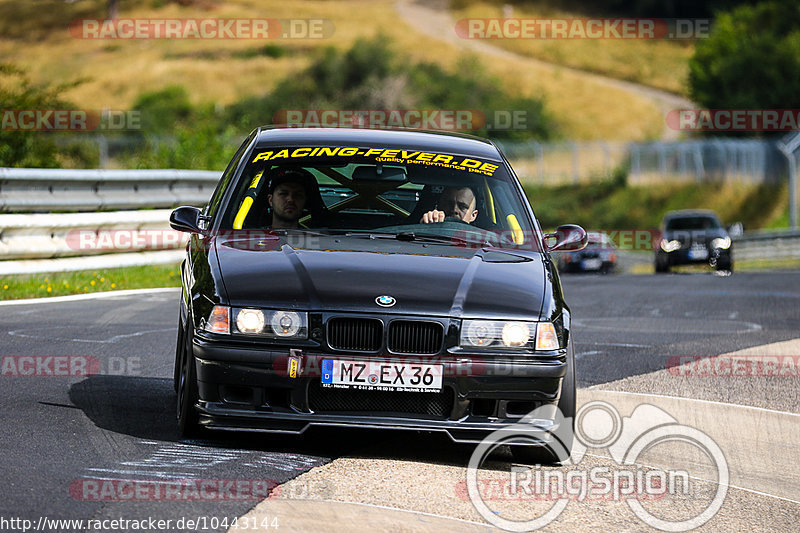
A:
POLYGON ((444 419, 453 409, 453 395, 440 392, 364 391, 308 386, 308 406, 315 412, 380 413, 383 416, 427 415, 444 419))

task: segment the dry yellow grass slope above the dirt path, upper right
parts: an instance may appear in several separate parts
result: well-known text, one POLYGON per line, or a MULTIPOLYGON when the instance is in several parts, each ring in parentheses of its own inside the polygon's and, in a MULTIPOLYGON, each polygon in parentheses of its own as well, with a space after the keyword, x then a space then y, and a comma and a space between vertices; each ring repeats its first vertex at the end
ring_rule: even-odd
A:
MULTIPOLYGON (((465 18, 503 18, 502 7, 476 3, 453 13, 465 18)), ((512 18, 581 18, 582 15, 537 6, 515 6, 512 18)), ((543 61, 597 72, 650 87, 687 95, 691 41, 638 39, 495 39, 490 41, 511 52, 543 61)))

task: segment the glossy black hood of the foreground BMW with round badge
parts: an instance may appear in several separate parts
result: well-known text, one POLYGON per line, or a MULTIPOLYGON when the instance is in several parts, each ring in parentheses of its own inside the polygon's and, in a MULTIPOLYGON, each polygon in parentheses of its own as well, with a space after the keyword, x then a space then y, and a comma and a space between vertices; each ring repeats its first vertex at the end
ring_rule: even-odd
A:
POLYGON ((536 319, 547 282, 533 252, 347 237, 215 247, 232 306, 536 319))

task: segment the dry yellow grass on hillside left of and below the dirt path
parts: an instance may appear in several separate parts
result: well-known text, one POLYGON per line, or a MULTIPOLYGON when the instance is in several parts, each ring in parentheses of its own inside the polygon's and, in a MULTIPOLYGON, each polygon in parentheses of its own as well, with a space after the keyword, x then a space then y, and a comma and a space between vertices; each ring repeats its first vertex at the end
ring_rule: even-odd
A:
MULTIPOLYGON (((205 4, 211 5, 211 4, 205 4)), ((229 104, 269 91, 282 77, 304 68, 312 49, 350 46, 376 34, 392 39, 408 61, 433 61, 453 69, 461 43, 428 37, 406 24, 395 3, 369 0, 280 2, 229 0, 213 9, 174 3, 160 8, 126 8, 123 18, 325 18, 335 32, 322 40, 275 40, 295 50, 281 58, 232 55, 266 44, 256 40, 80 40, 65 22, 60 31, 31 42, 2 38, 0 56, 26 68, 34 81, 85 81, 64 97, 88 108, 129 108, 143 91, 183 85, 195 103, 229 104)), ((483 58, 508 91, 544 98, 566 138, 641 140, 659 137, 662 114, 646 98, 600 85, 580 73, 525 65, 515 58, 483 58)), ((270 117, 265 117, 265 121, 270 117)))

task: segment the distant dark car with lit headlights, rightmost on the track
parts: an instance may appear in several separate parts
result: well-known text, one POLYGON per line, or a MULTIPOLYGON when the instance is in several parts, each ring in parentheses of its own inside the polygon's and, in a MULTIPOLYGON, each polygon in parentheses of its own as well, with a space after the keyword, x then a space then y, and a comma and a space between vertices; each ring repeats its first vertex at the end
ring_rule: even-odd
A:
POLYGON ((664 216, 661 231, 655 250, 656 272, 703 263, 717 270, 733 271, 733 243, 713 211, 670 211, 664 216))

